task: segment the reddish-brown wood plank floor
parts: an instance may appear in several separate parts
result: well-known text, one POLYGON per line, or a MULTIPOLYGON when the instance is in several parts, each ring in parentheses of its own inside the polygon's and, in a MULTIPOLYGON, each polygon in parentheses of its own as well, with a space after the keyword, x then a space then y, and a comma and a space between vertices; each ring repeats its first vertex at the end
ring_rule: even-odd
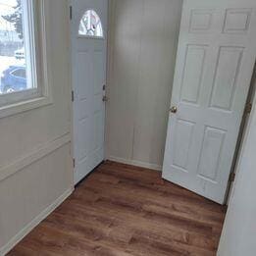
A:
POLYGON ((224 207, 107 162, 8 255, 216 255, 224 207))

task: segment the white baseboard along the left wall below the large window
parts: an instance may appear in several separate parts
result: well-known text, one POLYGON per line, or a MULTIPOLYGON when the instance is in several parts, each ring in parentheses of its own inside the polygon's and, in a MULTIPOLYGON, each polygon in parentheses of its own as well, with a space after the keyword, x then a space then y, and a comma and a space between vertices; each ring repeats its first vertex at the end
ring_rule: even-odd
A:
POLYGON ((40 222, 46 219, 59 205, 61 205, 74 191, 74 188, 68 189, 59 198, 57 198, 50 206, 42 211, 37 217, 35 217, 26 227, 19 231, 11 240, 0 248, 0 255, 6 255, 12 248, 15 247, 31 230, 33 230, 40 222))

